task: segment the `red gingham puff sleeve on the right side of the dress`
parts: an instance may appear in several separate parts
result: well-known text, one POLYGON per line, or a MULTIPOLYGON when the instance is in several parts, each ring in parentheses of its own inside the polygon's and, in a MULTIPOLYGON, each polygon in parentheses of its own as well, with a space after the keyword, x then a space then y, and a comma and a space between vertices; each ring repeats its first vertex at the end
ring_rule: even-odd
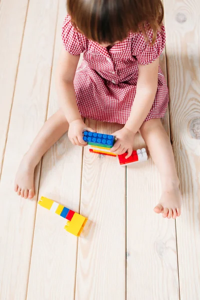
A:
MULTIPOLYGON (((164 49, 165 45, 165 28, 164 25, 161 26, 160 30, 157 31, 157 36, 154 44, 151 46, 146 42, 142 33, 140 33, 139 39, 139 50, 136 55, 136 59, 140 64, 149 64, 159 57, 164 49)), ((153 32, 148 31, 149 40, 152 40, 153 32)))

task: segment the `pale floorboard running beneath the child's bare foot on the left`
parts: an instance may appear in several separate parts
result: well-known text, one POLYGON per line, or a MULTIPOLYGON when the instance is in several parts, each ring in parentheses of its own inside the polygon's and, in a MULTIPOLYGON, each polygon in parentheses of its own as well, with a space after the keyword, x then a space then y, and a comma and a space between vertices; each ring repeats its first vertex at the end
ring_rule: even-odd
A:
POLYGON ((18 163, 46 116, 56 14, 57 0, 30 0, 0 182, 2 300, 26 298, 36 197, 20 199, 13 184, 18 163))

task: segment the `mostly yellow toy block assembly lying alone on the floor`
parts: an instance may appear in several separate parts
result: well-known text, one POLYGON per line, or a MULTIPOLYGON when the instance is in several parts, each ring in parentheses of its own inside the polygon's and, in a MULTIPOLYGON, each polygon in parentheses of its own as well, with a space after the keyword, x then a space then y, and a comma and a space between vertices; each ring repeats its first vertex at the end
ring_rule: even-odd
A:
POLYGON ((41 197, 38 204, 65 218, 67 220, 66 225, 64 226, 66 231, 74 234, 75 236, 80 235, 84 225, 86 224, 86 217, 45 197, 41 197))

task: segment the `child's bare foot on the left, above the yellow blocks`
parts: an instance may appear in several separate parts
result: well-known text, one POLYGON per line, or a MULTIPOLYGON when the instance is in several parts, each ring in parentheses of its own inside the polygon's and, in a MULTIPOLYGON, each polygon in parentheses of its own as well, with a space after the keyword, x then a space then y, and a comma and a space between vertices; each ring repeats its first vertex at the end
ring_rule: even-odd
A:
POLYGON ((16 173, 14 191, 25 199, 34 196, 34 168, 35 164, 24 155, 16 173))

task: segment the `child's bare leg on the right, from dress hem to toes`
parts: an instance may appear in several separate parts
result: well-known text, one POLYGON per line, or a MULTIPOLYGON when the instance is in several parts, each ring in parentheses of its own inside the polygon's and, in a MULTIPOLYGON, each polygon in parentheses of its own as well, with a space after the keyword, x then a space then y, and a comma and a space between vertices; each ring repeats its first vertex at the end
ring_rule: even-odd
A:
POLYGON ((180 215, 181 194, 169 137, 160 119, 151 119, 141 125, 140 133, 156 164, 161 178, 162 194, 155 206, 156 213, 175 218, 180 215))

